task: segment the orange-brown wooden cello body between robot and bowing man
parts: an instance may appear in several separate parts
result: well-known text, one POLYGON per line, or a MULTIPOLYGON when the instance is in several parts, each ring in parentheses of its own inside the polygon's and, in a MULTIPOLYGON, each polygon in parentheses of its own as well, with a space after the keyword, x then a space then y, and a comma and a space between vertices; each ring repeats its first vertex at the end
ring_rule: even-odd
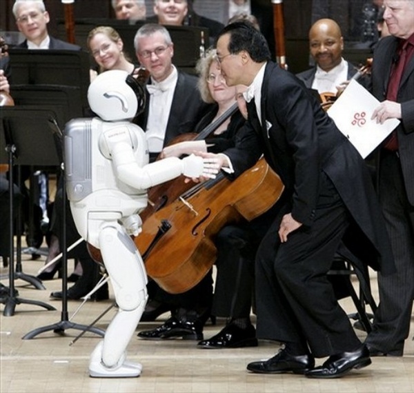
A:
POLYGON ((166 292, 190 290, 215 263, 215 234, 266 212, 283 188, 264 159, 234 181, 221 176, 195 185, 149 216, 135 238, 148 276, 166 292))

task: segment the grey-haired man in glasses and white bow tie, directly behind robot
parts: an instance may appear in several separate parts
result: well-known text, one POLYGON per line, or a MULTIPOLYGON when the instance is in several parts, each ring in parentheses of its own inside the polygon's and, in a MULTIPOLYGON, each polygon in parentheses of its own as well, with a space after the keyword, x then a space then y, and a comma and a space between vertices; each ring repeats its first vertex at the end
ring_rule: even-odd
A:
POLYGON ((194 131, 208 105, 201 100, 197 77, 172 64, 174 44, 164 26, 142 26, 134 46, 139 63, 150 73, 146 110, 137 123, 145 130, 150 157, 155 159, 171 139, 194 131))

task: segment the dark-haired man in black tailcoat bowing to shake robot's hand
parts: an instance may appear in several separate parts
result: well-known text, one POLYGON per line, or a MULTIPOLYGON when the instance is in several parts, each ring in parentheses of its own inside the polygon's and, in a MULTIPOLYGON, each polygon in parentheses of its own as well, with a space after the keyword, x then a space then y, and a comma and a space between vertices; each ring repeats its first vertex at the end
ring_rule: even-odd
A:
POLYGON ((221 163, 237 176, 263 153, 285 186, 286 203, 256 259, 257 336, 285 347, 247 368, 335 378, 365 367, 368 349, 326 277, 341 243, 384 274, 395 269, 364 161, 303 83, 270 61, 266 39, 250 23, 224 28, 217 61, 228 85, 249 86, 251 125, 218 155, 221 163))

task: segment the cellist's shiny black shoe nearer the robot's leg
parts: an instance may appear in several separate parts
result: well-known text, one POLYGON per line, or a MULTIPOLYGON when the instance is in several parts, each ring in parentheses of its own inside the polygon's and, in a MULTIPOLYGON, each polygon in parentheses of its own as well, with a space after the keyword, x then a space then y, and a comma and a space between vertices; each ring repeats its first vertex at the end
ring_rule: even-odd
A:
POLYGON ((202 340, 203 325, 197 319, 195 321, 180 321, 175 316, 171 316, 170 319, 158 328, 143 330, 138 333, 138 336, 146 340, 202 340))

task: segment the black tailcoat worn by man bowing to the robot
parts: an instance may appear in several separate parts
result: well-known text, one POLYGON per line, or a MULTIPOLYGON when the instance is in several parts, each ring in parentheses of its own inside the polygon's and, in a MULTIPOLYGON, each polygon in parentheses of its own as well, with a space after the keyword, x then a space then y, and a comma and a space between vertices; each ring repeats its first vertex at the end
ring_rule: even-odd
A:
MULTIPOLYGON (((319 196, 320 172, 331 179, 344 201, 351 225, 346 245, 384 274, 395 266, 384 219, 364 160, 319 102, 293 74, 266 65, 262 84, 262 126, 251 114, 250 127, 226 150, 235 176, 255 164, 262 152, 291 195, 293 218, 312 225, 319 196)), ((257 118, 257 116, 256 116, 257 118)))

